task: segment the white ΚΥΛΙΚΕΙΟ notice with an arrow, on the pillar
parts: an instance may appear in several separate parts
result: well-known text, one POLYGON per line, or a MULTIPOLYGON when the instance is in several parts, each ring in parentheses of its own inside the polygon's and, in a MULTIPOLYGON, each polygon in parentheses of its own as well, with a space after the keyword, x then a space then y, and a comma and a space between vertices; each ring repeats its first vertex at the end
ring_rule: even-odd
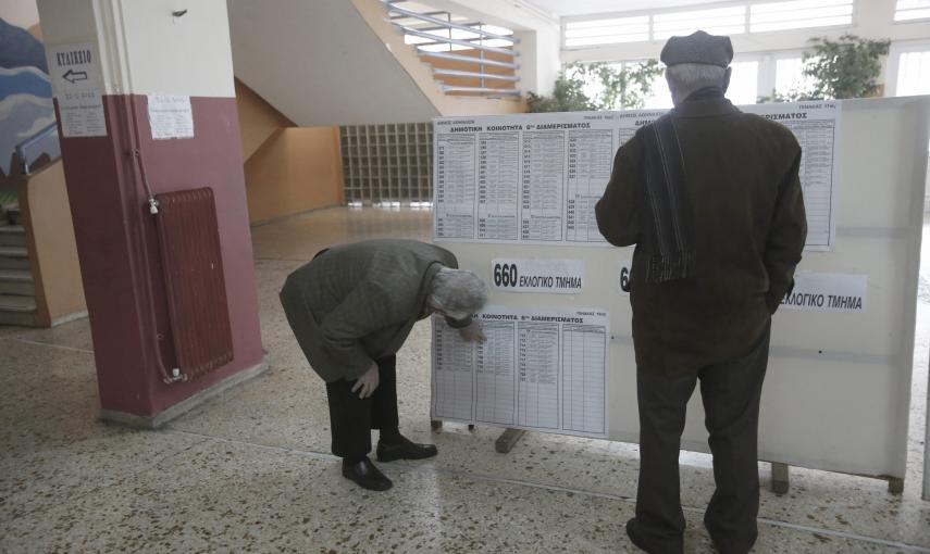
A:
POLYGON ((49 62, 62 137, 106 137, 103 84, 94 42, 52 47, 49 62))

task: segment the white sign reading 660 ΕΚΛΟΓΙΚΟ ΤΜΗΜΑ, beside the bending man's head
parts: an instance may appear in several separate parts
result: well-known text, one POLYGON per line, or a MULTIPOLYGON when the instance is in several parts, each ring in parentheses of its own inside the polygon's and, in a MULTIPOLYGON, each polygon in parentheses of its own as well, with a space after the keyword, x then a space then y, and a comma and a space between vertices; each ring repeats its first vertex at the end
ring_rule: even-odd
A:
POLYGON ((491 273, 492 286, 507 292, 578 294, 584 287, 582 260, 498 257, 491 261, 491 273))

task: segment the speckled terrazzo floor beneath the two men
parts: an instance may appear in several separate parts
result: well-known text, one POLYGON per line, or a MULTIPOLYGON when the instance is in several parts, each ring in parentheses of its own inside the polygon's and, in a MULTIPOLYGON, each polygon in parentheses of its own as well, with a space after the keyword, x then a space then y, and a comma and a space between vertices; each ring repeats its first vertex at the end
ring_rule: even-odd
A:
MULTIPOLYGON (((633 514, 635 445, 529 433, 501 455, 493 448, 498 429, 447 425, 432 433, 423 324, 399 353, 401 421, 441 455, 382 465, 395 481, 386 493, 345 481, 328 454, 324 388, 290 336, 276 291, 323 245, 429 240, 430 214, 327 210, 252 235, 272 369, 163 430, 97 421, 86 320, 52 330, 0 327, 0 552, 634 551, 622 524, 633 514)), ((904 494, 873 479, 793 468, 791 492, 777 496, 760 466, 755 552, 930 553, 930 502, 919 500, 927 281, 921 291, 904 494)), ((696 454, 683 462, 687 550, 711 552, 700 526, 709 462, 696 454)))

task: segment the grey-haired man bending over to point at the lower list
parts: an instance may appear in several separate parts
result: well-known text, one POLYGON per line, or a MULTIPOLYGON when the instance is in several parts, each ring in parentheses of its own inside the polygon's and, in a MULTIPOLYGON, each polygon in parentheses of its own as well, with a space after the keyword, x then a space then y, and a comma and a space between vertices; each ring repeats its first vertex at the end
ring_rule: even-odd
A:
POLYGON ((457 267, 451 252, 433 244, 368 240, 323 250, 284 284, 287 322, 326 381, 333 454, 360 487, 393 484, 368 457, 372 429, 381 431, 379 462, 436 455, 436 446, 400 435, 395 354, 413 324, 433 313, 463 340, 484 339, 471 314, 484 305, 486 286, 457 267))

